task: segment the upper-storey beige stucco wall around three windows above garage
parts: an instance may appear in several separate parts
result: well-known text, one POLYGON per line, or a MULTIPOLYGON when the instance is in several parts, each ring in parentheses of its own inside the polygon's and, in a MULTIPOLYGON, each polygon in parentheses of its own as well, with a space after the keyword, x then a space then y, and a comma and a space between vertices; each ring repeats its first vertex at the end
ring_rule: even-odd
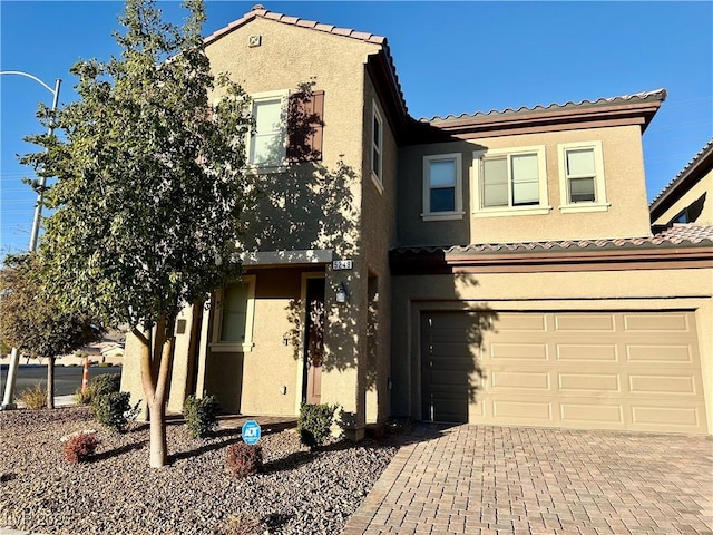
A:
POLYGON ((543 134, 484 137, 403 147, 399 168, 399 245, 443 245, 490 242, 527 242, 651 235, 644 159, 638 126, 576 129, 543 134), (561 213, 558 144, 602 142, 606 200, 605 212, 561 213), (473 216, 472 153, 484 148, 545 146, 546 215, 473 216), (423 222, 424 155, 461 153, 463 210, 458 221, 423 222))

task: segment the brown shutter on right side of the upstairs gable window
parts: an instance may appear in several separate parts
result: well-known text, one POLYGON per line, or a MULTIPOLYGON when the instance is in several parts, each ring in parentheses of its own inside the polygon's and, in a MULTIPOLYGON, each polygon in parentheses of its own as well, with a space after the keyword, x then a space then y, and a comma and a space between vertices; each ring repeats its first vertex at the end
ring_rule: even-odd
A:
POLYGON ((287 159, 322 159, 324 91, 297 91, 290 95, 287 108, 287 159))

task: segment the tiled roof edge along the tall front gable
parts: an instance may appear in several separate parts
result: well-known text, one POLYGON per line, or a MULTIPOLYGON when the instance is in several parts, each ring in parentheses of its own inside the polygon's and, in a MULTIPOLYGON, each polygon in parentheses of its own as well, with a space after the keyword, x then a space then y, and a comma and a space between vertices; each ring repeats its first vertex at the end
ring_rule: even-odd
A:
POLYGON ((393 95, 392 97, 397 99, 397 104, 400 106, 402 111, 402 118, 406 119, 408 117, 408 108, 406 105, 406 99, 403 98, 403 90, 401 89, 401 84, 399 81, 399 77, 397 76, 397 68, 393 62, 393 57, 391 56, 391 51, 389 49, 389 42, 385 37, 375 36, 373 33, 368 33, 363 31, 352 30, 351 28, 338 28, 333 25, 323 25, 315 20, 306 20, 301 19, 299 17, 290 17, 287 14, 277 13, 275 11, 268 11, 263 6, 256 4, 253 6, 252 10, 245 13, 240 19, 231 22, 225 28, 222 28, 211 36, 206 37, 203 42, 205 45, 209 45, 222 37, 231 33, 232 31, 245 26, 251 20, 256 18, 274 20, 276 22, 282 22, 283 25, 296 26, 299 28, 306 28, 310 30, 322 31, 325 33, 331 33, 333 36, 345 37, 350 39, 356 39, 364 42, 370 42, 372 45, 380 45, 381 50, 383 52, 383 59, 385 61, 387 72, 385 75, 390 78, 390 82, 392 85, 393 95))

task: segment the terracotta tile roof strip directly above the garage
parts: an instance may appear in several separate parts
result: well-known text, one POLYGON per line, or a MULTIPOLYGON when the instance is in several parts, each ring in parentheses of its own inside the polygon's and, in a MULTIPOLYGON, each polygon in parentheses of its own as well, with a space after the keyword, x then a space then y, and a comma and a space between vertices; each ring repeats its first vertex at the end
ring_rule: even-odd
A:
POLYGON ((561 240, 547 242, 481 243, 452 246, 399 247, 392 251, 397 255, 419 253, 473 254, 510 252, 563 252, 599 251, 631 249, 665 249, 672 246, 713 246, 713 226, 695 224, 675 224, 671 228, 647 237, 602 239, 602 240, 561 240))

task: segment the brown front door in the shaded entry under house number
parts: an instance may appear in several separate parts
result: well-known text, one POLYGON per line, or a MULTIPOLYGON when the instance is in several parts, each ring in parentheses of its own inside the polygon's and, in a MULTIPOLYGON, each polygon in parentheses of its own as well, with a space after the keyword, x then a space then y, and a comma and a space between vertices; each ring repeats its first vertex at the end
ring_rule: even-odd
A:
POLYGON ((304 391, 303 401, 321 401, 322 361, 324 359, 324 279, 306 280, 304 332, 304 391))

